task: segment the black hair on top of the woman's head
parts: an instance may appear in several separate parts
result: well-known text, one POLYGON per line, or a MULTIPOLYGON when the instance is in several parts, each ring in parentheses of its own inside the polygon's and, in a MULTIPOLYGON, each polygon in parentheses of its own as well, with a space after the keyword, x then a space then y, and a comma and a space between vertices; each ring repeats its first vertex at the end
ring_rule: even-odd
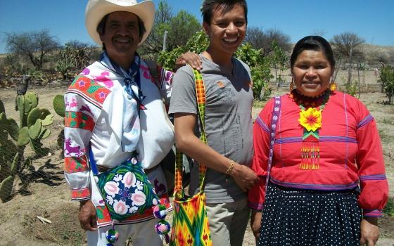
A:
POLYGON ((331 45, 326 39, 320 36, 307 36, 300 39, 300 41, 295 44, 293 48, 293 53, 291 53, 290 58, 290 67, 294 66, 295 60, 297 60, 298 55, 303 51, 322 51, 324 56, 326 56, 327 60, 331 67, 335 67, 335 60, 333 58, 333 51, 331 45))

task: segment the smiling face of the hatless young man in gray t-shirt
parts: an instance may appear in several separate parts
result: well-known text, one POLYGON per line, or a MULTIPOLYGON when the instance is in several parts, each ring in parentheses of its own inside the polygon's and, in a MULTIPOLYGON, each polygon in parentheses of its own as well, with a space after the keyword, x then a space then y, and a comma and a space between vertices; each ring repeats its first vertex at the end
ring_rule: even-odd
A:
POLYGON ((203 22, 203 27, 210 39, 208 50, 232 56, 245 38, 245 11, 236 4, 230 11, 223 13, 222 8, 217 6, 212 12, 211 22, 203 22))

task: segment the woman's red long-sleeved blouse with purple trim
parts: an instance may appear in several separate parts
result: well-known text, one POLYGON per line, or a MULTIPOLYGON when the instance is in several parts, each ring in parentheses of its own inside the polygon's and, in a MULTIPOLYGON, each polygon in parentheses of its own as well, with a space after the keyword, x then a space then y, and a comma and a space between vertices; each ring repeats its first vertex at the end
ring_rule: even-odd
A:
MULTIPOLYGON (((262 209, 264 204, 273 105, 273 100, 267 103, 253 129, 252 169, 260 177, 260 183, 248 192, 248 205, 253 209, 262 209)), ((331 94, 322 111, 319 169, 300 169, 303 127, 299 114, 293 99, 281 96, 270 181, 308 190, 348 190, 360 185, 358 201, 364 216, 382 216, 388 182, 376 122, 367 108, 348 94, 331 94)))

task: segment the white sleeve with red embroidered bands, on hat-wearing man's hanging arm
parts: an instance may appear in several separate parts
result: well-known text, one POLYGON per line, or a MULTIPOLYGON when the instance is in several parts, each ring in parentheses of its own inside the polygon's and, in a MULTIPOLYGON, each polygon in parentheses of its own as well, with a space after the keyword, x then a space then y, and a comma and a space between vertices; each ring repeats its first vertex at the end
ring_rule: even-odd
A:
POLYGON ((90 198, 87 151, 95 117, 100 112, 100 93, 108 93, 91 79, 77 77, 65 93, 64 171, 72 200, 90 198))

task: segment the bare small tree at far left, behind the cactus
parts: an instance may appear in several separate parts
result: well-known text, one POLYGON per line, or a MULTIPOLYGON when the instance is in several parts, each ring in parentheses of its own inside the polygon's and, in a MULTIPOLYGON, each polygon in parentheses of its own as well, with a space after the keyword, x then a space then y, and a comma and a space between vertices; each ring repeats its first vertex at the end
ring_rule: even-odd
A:
POLYGON ((37 70, 42 70, 48 53, 59 47, 58 41, 49 34, 49 30, 6 33, 5 41, 8 51, 26 56, 37 70))

